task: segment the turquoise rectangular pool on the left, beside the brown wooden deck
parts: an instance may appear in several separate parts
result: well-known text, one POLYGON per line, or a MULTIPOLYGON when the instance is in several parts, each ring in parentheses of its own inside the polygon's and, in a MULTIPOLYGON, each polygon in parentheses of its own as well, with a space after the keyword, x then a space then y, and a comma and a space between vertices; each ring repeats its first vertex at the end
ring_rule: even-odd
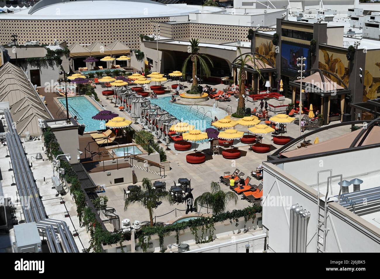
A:
MULTIPOLYGON (((65 98, 59 98, 58 100, 64 107, 66 107, 65 98)), ((86 128, 84 129, 85 132, 97 131, 105 128, 105 121, 93 120, 91 118, 97 114, 99 110, 94 107, 85 96, 68 97, 67 103, 71 117, 76 115, 78 122, 86 125, 86 128)))

